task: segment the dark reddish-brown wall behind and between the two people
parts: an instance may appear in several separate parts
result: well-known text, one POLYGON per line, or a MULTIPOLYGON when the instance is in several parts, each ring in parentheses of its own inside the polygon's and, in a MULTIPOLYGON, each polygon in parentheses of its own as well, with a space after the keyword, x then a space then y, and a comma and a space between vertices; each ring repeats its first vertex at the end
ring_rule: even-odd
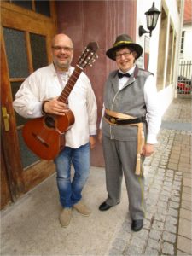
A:
MULTIPOLYGON (((102 110, 102 92, 108 73, 116 68, 115 62, 105 55, 115 38, 127 33, 135 39, 136 1, 56 1, 58 32, 73 39, 73 66, 90 41, 99 44, 99 58, 84 72, 90 78, 96 94, 99 125, 102 110)), ((102 145, 96 144, 91 152, 91 166, 104 166, 102 145)))

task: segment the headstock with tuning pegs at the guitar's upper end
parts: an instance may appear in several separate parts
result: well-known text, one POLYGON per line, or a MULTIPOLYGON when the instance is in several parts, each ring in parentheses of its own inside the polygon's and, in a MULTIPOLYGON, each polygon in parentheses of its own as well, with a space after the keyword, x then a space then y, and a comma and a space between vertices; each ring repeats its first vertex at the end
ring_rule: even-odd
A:
POLYGON ((90 42, 79 57, 79 67, 84 68, 88 65, 92 66, 92 63, 96 61, 96 58, 98 58, 98 55, 96 55, 97 49, 99 49, 98 44, 96 44, 96 42, 90 42))

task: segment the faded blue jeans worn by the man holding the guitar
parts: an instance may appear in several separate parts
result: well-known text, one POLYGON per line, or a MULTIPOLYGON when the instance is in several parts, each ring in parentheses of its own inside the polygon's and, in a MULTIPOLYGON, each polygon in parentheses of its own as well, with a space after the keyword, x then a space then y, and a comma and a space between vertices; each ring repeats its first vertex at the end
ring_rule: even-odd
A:
POLYGON ((61 206, 71 208, 81 200, 81 192, 90 173, 90 143, 79 148, 65 147, 55 158, 57 186, 61 206), (71 165, 74 177, 71 178, 71 165))

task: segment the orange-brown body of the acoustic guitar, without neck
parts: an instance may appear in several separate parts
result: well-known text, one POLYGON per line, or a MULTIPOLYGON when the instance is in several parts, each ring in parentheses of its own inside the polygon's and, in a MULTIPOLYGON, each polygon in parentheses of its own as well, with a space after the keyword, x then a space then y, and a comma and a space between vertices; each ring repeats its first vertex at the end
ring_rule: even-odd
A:
POLYGON ((28 148, 44 160, 53 160, 65 147, 65 132, 74 123, 74 115, 68 110, 64 116, 46 114, 24 125, 22 135, 28 148))

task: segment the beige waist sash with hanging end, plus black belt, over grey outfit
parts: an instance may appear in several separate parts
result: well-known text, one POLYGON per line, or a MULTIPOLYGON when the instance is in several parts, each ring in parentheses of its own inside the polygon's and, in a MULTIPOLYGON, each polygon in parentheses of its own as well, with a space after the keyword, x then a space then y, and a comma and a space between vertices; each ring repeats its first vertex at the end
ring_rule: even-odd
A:
POLYGON ((125 113, 118 113, 105 109, 104 118, 110 125, 137 125, 137 163, 136 175, 141 174, 141 154, 144 146, 143 123, 146 122, 145 117, 135 118, 125 113))

